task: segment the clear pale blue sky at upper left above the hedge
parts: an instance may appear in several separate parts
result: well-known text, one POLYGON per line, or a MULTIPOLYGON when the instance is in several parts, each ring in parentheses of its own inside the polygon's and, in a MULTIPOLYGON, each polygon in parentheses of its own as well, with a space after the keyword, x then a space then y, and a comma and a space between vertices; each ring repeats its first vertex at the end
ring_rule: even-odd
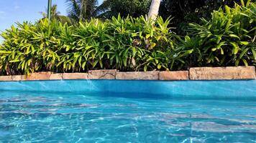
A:
MULTIPOLYGON (((52 0, 52 4, 58 5, 60 14, 66 15, 66 0, 52 0)), ((99 0, 99 4, 103 0, 99 0)), ((16 21, 35 21, 42 15, 40 11, 46 11, 47 0, 0 0, 0 33, 9 29, 16 21)), ((0 39, 1 41, 1 39, 0 39)))

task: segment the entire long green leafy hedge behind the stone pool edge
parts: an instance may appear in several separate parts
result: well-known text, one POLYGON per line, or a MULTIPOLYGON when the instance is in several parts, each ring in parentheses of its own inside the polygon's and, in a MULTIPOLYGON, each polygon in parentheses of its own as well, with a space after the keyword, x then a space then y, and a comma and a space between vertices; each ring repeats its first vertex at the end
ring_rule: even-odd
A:
POLYGON ((214 11, 210 21, 190 24, 185 37, 173 33, 170 22, 118 16, 73 26, 47 19, 18 23, 1 34, 0 73, 256 65, 255 3, 214 11))

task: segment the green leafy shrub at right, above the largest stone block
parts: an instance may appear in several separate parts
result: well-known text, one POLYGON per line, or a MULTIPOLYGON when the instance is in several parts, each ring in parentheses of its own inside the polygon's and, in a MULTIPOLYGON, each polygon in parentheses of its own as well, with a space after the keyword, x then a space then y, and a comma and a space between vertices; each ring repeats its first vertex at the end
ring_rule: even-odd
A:
POLYGON ((186 59, 188 66, 239 66, 256 62, 256 3, 224 7, 211 15, 204 24, 190 24, 184 49, 193 53, 186 59))

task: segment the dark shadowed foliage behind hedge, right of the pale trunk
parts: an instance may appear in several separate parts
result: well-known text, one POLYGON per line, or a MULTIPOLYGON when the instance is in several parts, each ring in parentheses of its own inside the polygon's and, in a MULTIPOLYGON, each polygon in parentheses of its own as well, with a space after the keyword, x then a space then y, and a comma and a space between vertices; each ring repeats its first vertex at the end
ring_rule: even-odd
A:
POLYGON ((178 32, 190 22, 200 21, 201 17, 211 18, 211 12, 219 7, 234 6, 240 0, 163 0, 160 5, 160 16, 163 19, 173 16, 173 23, 178 26, 178 32))

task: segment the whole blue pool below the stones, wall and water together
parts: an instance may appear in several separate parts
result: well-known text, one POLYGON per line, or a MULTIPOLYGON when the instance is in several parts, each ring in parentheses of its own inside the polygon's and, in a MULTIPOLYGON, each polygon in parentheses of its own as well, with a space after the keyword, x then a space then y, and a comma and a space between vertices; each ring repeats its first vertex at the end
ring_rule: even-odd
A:
POLYGON ((0 142, 256 142, 255 87, 254 80, 0 82, 0 142))

